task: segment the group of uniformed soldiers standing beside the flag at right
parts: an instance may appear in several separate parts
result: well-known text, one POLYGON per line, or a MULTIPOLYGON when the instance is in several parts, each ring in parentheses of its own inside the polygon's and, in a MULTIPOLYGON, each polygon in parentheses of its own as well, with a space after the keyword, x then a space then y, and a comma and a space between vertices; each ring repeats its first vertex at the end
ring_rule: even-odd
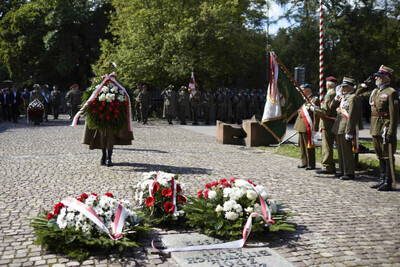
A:
MULTIPOLYGON (((295 123, 301 152, 301 165, 298 168, 315 169, 313 135, 321 129, 323 168, 317 173, 332 174, 340 180, 355 178, 354 153, 358 153, 358 131, 363 128, 361 99, 364 98, 371 106, 370 134, 380 165, 379 181, 371 188, 392 190, 399 119, 399 95, 390 86, 393 72, 393 69, 382 65, 374 76, 359 86, 351 77, 344 77, 339 85, 335 77, 326 78, 327 93, 321 105, 318 98, 314 97, 299 109, 295 123), (372 86, 374 79, 375 85, 372 86), (338 172, 333 160, 335 140, 338 172)), ((311 97, 311 85, 303 84, 301 87, 305 95, 311 97)))

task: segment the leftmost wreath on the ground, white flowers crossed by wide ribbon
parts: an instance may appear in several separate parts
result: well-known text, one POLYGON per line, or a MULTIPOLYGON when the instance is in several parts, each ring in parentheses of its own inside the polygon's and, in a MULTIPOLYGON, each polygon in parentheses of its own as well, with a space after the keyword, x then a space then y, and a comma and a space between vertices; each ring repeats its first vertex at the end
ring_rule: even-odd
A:
POLYGON ((111 193, 83 193, 65 198, 52 212, 32 218, 30 225, 35 244, 83 261, 98 250, 139 247, 149 231, 139 225, 142 220, 129 201, 117 201, 111 193))

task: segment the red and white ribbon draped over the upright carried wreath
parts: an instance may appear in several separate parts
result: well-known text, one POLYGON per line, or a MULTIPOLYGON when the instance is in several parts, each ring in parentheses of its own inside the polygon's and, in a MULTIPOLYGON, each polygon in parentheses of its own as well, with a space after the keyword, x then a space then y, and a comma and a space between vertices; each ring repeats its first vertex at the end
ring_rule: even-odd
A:
POLYGON ((115 80, 115 73, 111 73, 110 75, 104 75, 102 78, 103 81, 101 82, 101 84, 98 86, 96 90, 93 91, 92 95, 89 97, 86 103, 83 104, 82 108, 74 116, 71 126, 76 126, 78 124, 78 119, 84 113, 87 106, 89 106, 92 100, 95 99, 100 94, 101 89, 103 89, 103 86, 111 82, 115 86, 117 86, 118 89, 122 91, 122 93, 124 94, 125 98, 129 103, 129 105, 126 107, 126 110, 128 112, 127 123, 128 123, 128 130, 132 131, 132 112, 131 112, 131 100, 129 94, 126 92, 125 88, 115 80))

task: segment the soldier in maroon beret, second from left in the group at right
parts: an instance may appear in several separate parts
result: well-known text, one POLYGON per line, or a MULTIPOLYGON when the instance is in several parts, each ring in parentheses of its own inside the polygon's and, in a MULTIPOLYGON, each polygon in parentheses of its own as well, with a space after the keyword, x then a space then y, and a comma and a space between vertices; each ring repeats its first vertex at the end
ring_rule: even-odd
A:
POLYGON ((334 101, 336 96, 337 79, 333 76, 327 77, 326 95, 321 108, 316 108, 314 112, 320 115, 319 127, 322 129, 321 162, 322 169, 317 170, 318 174, 335 174, 335 162, 333 161, 333 142, 334 134, 332 126, 336 120, 336 108, 338 101, 334 101))

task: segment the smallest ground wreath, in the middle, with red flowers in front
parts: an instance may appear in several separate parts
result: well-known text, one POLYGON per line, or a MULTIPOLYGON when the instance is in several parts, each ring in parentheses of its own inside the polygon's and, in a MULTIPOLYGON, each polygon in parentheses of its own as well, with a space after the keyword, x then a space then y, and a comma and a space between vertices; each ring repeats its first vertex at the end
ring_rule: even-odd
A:
POLYGON ((182 194, 178 175, 167 172, 147 172, 137 183, 135 201, 153 225, 180 224, 186 198, 182 194))

